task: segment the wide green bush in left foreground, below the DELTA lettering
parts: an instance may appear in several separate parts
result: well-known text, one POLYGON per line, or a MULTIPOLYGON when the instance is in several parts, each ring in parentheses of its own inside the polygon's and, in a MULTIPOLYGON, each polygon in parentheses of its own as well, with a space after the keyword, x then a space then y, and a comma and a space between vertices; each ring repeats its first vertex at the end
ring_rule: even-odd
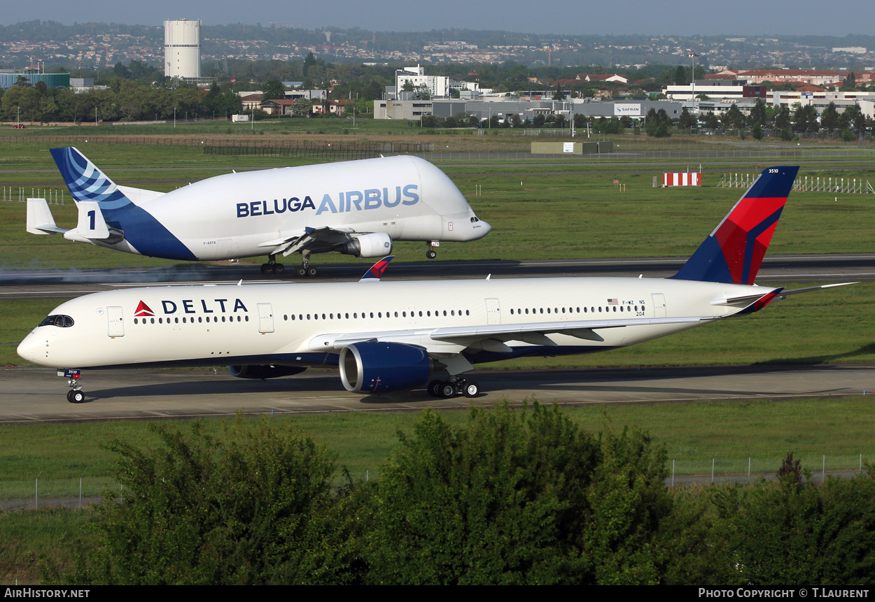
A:
POLYGON ((334 491, 332 456, 297 432, 238 418, 224 436, 151 426, 160 443, 121 440, 116 478, 98 509, 102 545, 74 583, 349 583, 356 521, 350 486, 334 491))

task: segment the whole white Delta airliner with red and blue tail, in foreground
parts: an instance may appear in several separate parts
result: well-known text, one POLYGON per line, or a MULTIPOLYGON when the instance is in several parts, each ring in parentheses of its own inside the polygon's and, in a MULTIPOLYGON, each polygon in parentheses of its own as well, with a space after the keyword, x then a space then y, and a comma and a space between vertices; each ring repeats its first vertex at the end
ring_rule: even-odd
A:
MULTIPOLYGON (((18 355, 69 377, 80 370, 226 364, 236 377, 338 366, 347 391, 426 385, 477 395, 472 364, 625 347, 765 308, 796 290, 758 287, 796 167, 763 170, 681 270, 668 279, 544 278, 149 287, 67 301, 18 355)), ((846 283, 851 284, 851 283, 846 283)))

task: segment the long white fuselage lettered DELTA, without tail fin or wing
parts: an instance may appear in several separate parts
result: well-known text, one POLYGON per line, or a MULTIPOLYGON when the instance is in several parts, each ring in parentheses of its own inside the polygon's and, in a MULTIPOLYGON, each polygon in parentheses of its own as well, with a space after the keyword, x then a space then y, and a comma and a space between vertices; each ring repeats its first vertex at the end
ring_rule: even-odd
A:
POLYGON ((52 315, 71 326, 33 329, 18 354, 44 366, 88 368, 155 363, 336 364, 343 341, 366 336, 421 345, 472 363, 513 355, 557 355, 623 347, 739 312, 719 300, 769 289, 688 280, 557 278, 324 284, 146 287, 88 294, 52 315), (616 322, 596 337, 561 332, 565 322, 616 322), (452 329, 542 324, 537 335, 504 334, 512 353, 438 336, 452 329), (541 335, 542 336, 542 335, 541 335), (599 340, 600 339, 600 340, 599 340))

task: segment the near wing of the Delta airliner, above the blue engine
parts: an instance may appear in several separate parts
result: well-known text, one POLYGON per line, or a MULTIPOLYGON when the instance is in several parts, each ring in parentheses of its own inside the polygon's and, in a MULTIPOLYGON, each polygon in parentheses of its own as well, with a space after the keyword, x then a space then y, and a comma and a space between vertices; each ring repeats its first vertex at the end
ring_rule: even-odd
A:
POLYGON ((628 318, 618 320, 577 320, 565 322, 530 322, 521 324, 490 324, 483 326, 458 326, 435 329, 374 330, 363 333, 339 333, 314 336, 310 349, 314 351, 339 351, 352 343, 381 341, 405 343, 423 347, 430 355, 458 354, 465 349, 486 349, 498 353, 511 353, 506 343, 519 341, 533 345, 555 347, 549 335, 575 336, 587 341, 603 341, 598 336, 600 329, 618 329, 628 326, 655 324, 693 324, 714 320, 713 316, 689 316, 680 318, 628 318))

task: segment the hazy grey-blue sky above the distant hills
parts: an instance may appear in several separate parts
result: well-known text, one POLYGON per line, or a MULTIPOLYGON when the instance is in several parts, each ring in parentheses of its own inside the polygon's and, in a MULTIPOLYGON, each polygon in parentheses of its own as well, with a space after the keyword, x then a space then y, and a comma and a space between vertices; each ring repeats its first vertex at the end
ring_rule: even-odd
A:
POLYGON ((677 35, 872 34, 875 3, 867 0, 728 0, 674 2, 616 0, 539 3, 533 0, 333 0, 276 3, 263 0, 78 0, 6 3, 0 22, 33 19, 65 24, 88 21, 161 24, 192 18, 204 24, 271 22, 306 29, 361 27, 377 31, 430 31, 453 27, 531 33, 651 33, 677 35))

